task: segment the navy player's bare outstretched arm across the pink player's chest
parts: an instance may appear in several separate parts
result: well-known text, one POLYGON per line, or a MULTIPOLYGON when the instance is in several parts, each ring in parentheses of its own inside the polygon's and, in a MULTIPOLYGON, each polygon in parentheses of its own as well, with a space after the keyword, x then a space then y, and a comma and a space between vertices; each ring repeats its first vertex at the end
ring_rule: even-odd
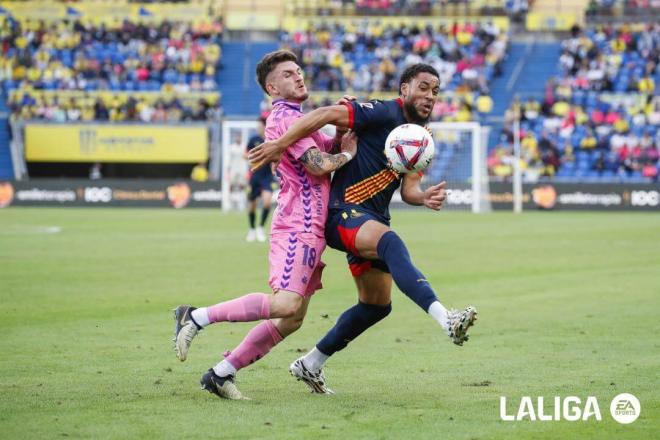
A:
POLYGON ((289 145, 309 136, 324 125, 332 124, 348 128, 349 123, 349 112, 345 105, 319 107, 298 119, 279 139, 264 142, 250 150, 248 154, 250 168, 255 170, 268 162, 279 161, 289 145))

